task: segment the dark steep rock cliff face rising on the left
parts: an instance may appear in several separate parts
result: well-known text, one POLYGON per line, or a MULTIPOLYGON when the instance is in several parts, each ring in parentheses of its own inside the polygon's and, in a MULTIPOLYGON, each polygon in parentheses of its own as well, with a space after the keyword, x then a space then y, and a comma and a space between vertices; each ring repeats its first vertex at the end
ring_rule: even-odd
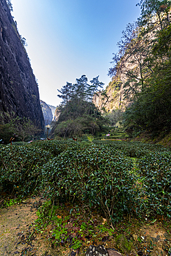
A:
POLYGON ((0 0, 0 122, 19 116, 44 127, 35 75, 5 0, 0 0))

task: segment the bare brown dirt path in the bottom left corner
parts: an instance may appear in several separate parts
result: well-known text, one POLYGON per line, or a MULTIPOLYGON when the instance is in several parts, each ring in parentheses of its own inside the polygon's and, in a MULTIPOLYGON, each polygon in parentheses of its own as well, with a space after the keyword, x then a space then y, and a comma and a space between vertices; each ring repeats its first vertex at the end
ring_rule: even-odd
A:
POLYGON ((36 197, 0 209, 0 255, 46 255, 51 254, 51 246, 42 237, 34 235, 31 223, 37 219, 37 208, 43 199, 36 197), (28 239, 29 238, 29 239, 28 239), (50 253, 50 254, 49 254, 50 253))

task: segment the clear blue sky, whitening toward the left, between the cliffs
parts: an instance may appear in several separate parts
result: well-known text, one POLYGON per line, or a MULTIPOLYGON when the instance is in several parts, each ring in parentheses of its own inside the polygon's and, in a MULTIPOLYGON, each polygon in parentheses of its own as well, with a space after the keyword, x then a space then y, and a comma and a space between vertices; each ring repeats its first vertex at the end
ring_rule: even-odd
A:
MULTIPOLYGON (((140 0, 11 0, 12 16, 39 84, 39 98, 57 106, 57 89, 86 75, 111 81, 112 53, 140 0)), ((104 86, 104 89, 105 89, 104 86)))

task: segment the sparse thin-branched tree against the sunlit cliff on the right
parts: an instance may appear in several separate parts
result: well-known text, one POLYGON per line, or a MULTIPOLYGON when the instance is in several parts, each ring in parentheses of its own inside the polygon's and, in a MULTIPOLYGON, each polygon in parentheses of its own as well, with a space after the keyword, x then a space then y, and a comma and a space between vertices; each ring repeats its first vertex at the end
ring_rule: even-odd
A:
POLYGON ((134 99, 144 89, 144 80, 152 72, 149 61, 151 45, 150 35, 144 35, 137 24, 128 24, 118 43, 119 51, 114 54, 109 75, 123 83, 125 98, 134 99))

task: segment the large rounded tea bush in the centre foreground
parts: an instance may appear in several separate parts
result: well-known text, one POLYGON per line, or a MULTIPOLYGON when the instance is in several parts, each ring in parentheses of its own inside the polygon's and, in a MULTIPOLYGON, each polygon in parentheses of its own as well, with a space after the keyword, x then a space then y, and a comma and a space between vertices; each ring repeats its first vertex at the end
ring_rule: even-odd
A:
POLYGON ((80 201, 98 207, 114 221, 130 214, 137 192, 132 161, 107 146, 69 149, 42 169, 53 200, 80 201))

